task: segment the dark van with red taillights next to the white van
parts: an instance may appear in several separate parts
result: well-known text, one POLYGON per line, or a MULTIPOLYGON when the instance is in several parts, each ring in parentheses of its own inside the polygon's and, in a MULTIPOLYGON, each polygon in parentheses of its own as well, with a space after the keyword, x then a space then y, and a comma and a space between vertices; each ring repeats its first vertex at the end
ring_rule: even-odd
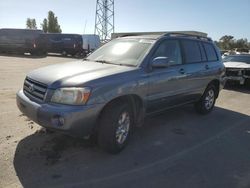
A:
POLYGON ((78 34, 46 33, 48 53, 72 55, 83 53, 82 36, 78 34))

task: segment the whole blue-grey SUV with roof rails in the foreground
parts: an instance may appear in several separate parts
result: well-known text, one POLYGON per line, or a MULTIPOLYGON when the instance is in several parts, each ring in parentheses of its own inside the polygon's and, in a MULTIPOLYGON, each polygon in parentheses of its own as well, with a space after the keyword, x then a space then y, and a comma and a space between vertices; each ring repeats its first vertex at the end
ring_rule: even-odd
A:
POLYGON ((121 37, 83 61, 30 72, 17 106, 47 129, 96 135, 101 148, 117 153, 145 116, 188 103, 201 114, 211 112, 224 71, 220 51, 207 37, 121 37))

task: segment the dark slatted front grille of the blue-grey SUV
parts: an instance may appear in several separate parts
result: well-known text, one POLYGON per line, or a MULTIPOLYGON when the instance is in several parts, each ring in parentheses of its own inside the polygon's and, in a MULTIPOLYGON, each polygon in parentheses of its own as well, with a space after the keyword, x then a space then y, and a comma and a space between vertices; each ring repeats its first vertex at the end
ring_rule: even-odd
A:
POLYGON ((43 101, 46 95, 47 86, 30 78, 26 78, 23 84, 23 91, 27 97, 43 101))

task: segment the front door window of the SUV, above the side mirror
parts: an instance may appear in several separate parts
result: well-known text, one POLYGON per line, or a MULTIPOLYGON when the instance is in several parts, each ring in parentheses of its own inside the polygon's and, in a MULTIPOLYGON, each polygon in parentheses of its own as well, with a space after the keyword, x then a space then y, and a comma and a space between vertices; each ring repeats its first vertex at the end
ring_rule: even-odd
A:
POLYGON ((167 57, 170 65, 182 64, 180 45, 177 40, 166 40, 156 49, 153 59, 167 57))

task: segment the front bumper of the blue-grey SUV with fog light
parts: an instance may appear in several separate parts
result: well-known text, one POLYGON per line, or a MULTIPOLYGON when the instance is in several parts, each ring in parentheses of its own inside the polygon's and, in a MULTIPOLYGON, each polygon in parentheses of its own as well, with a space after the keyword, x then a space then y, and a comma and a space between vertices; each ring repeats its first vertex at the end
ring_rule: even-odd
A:
POLYGON ((92 133, 98 114, 104 104, 72 106, 60 104, 39 104, 31 101, 20 90, 16 95, 19 110, 37 124, 77 137, 92 133))

